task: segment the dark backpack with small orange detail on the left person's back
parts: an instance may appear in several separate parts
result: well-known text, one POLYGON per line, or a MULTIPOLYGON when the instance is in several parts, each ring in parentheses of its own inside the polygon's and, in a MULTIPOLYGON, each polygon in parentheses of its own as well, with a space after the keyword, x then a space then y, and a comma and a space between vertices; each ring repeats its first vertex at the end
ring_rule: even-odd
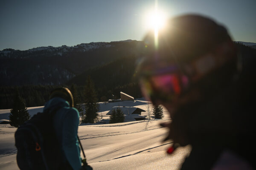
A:
POLYGON ((53 117, 58 109, 38 112, 18 127, 15 132, 15 146, 20 170, 71 168, 69 164, 62 162, 63 154, 53 127, 53 117))

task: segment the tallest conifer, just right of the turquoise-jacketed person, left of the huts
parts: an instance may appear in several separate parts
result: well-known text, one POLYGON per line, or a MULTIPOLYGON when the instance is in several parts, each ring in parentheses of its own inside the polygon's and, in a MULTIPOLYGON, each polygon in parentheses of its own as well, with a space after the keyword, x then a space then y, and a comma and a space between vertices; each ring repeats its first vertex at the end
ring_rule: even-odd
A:
POLYGON ((85 117, 82 119, 83 123, 94 123, 97 120, 99 114, 99 105, 97 103, 96 90, 90 77, 87 77, 87 82, 84 91, 85 98, 85 117))

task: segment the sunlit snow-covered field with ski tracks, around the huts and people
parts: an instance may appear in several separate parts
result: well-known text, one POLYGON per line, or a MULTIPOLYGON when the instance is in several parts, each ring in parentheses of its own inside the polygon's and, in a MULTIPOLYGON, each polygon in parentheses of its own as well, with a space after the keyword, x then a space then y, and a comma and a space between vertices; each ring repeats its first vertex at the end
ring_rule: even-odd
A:
MULTIPOLYGON (((100 103, 99 116, 106 115, 114 106, 137 107, 148 111, 148 102, 100 103)), ((43 107, 28 108, 30 115, 42 111, 43 107)), ((9 119, 9 110, 0 110, 0 120, 9 119)), ((148 112, 142 112, 146 116, 148 112)), ((167 130, 160 127, 160 122, 170 121, 164 108, 163 119, 131 121, 116 124, 80 125, 78 134, 87 156, 88 163, 94 170, 172 170, 179 169, 190 148, 180 147, 172 155, 166 150, 172 142, 161 142, 167 130)), ((129 119, 126 119, 127 121, 129 119)), ((131 119, 130 119, 131 120, 131 119)), ((0 125, 0 169, 17 170, 14 133, 17 128, 0 125)), ((81 154, 81 157, 82 154, 81 154)))

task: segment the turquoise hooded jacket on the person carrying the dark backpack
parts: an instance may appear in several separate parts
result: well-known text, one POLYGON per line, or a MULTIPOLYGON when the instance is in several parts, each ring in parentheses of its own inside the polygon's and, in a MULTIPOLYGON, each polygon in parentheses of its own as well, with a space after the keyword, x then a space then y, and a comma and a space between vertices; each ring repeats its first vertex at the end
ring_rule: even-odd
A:
MULTIPOLYGON (((73 170, 81 169, 81 157, 79 142, 77 139, 77 130, 79 125, 79 112, 76 108, 71 108, 69 103, 60 98, 50 99, 44 106, 44 111, 49 109, 53 111, 59 108, 53 117, 53 127, 66 159, 73 170)), ((66 161, 63 160, 63 161, 66 161)))

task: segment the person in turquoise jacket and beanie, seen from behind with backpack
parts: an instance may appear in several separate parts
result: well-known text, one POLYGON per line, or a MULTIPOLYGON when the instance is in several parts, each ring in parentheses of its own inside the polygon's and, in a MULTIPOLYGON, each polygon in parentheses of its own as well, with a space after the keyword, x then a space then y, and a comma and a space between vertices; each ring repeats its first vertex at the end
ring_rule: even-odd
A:
MULTIPOLYGON (((92 170, 80 157, 79 112, 68 88, 56 88, 37 113, 15 133, 17 164, 21 170, 92 170)), ((81 144, 81 143, 80 143, 81 144)))

